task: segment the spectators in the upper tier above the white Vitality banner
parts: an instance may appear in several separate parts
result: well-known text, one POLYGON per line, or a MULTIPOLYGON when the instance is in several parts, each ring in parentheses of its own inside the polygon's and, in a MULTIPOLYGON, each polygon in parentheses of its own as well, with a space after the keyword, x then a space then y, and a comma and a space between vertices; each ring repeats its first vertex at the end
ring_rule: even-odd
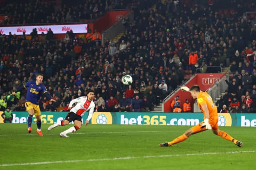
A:
POLYGON ((108 10, 132 8, 127 1, 114 0, 62 0, 60 6, 49 1, 26 1, 18 3, 10 0, 0 9, 0 14, 12 17, 4 21, 5 25, 24 25, 39 23, 70 23, 101 18, 108 10))

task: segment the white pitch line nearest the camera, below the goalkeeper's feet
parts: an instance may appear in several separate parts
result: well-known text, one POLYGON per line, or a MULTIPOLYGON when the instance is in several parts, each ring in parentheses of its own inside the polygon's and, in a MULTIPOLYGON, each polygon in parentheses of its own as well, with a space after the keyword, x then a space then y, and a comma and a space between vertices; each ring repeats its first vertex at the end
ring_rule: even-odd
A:
POLYGON ((27 163, 16 163, 16 164, 0 164, 0 166, 24 166, 24 165, 58 164, 58 163, 70 163, 70 162, 98 162, 98 161, 104 161, 104 160, 162 158, 162 157, 174 157, 174 156, 200 156, 200 155, 211 155, 211 154, 235 154, 235 153, 248 153, 248 152, 256 152, 256 150, 244 150, 244 151, 233 151, 233 152, 169 154, 169 155, 152 155, 152 156, 137 156, 137 157, 135 157, 135 156, 127 156, 127 157, 119 157, 119 158, 60 160, 60 161, 48 161, 48 162, 27 162, 27 163))

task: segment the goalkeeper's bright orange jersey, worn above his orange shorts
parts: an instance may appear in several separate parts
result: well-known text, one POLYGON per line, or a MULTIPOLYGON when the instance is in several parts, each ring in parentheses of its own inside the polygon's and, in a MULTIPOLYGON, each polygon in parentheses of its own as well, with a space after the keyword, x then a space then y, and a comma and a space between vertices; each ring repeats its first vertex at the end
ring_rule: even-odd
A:
POLYGON ((202 105, 206 104, 207 108, 209 110, 209 122, 212 121, 218 121, 218 110, 217 107, 215 106, 215 104, 212 101, 212 97, 206 93, 206 92, 199 92, 198 96, 197 96, 197 103, 199 108, 201 109, 201 111, 204 114, 204 119, 205 119, 205 113, 202 109, 202 105))

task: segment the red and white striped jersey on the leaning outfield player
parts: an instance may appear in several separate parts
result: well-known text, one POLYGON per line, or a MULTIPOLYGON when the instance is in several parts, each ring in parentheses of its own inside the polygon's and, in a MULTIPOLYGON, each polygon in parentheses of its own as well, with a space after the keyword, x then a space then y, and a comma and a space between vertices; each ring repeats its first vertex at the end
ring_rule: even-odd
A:
MULTIPOLYGON (((95 107, 95 104, 94 104, 93 101, 89 102, 89 101, 87 100, 87 96, 81 96, 81 97, 79 97, 79 98, 76 98, 76 99, 74 99, 74 100, 71 100, 71 102, 70 102, 70 104, 69 104, 69 107, 72 107, 72 105, 73 105, 74 103, 77 103, 77 104, 76 104, 76 106, 73 107, 70 111, 76 113, 77 115, 82 116, 82 115, 84 115, 84 113, 85 113, 86 111, 89 110, 88 118, 90 118, 90 119, 92 118, 91 116, 92 116, 92 114, 93 114, 93 112, 94 112, 94 107, 95 107)), ((87 120, 88 120, 88 118, 87 118, 87 120)), ((89 120, 90 120, 90 119, 89 119, 89 120)))

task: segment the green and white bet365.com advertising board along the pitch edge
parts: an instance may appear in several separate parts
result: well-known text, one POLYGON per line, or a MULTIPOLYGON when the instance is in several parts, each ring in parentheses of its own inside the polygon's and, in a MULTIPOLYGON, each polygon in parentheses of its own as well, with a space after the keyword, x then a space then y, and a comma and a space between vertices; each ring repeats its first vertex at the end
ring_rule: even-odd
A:
MULTIPOLYGON (((56 123, 65 119, 68 112, 42 112, 42 123, 56 123)), ((0 115, 2 112, 0 111, 0 115)), ((83 115, 83 123, 88 113, 83 115)), ((218 113, 219 126, 256 127, 255 113, 218 113)), ((12 123, 27 123, 27 112, 13 112, 12 123)), ((94 112, 92 124, 120 125, 188 125, 194 126, 203 121, 202 113, 153 113, 153 112, 94 112)), ((0 123, 3 123, 0 117, 0 123)), ((36 117, 33 117, 36 123, 36 117)), ((72 122, 73 123, 73 122, 72 122)))

